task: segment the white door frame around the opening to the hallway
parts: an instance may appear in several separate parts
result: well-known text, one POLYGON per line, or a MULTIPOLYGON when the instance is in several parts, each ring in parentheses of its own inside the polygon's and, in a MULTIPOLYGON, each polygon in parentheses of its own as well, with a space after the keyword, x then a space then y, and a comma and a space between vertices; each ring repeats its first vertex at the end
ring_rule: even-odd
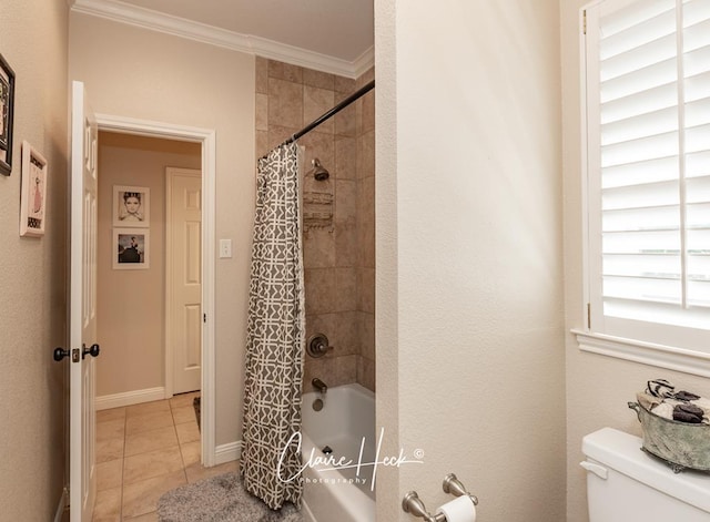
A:
MULTIPOLYGON (((202 463, 215 464, 215 198, 216 132, 174 123, 97 113, 99 131, 202 144, 202 328, 201 446, 202 463)), ((165 387, 172 396, 172 382, 165 387)), ((166 397, 168 398, 168 397, 166 397)))

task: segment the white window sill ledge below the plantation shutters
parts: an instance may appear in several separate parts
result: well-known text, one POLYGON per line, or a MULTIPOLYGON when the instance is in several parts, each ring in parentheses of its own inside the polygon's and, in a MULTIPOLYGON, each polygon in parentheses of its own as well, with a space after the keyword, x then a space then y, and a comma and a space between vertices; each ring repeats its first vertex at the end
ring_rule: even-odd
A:
POLYGON ((710 377, 710 355, 572 329, 581 351, 710 377))

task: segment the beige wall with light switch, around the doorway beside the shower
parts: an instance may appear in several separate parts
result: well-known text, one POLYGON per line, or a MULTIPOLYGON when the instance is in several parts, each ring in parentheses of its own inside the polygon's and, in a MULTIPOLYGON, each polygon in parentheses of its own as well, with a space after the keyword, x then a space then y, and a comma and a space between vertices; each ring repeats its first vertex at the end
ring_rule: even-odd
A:
POLYGON ((254 212, 254 57, 101 18, 70 16, 70 78, 95 112, 216 132, 216 444, 241 438, 254 212))

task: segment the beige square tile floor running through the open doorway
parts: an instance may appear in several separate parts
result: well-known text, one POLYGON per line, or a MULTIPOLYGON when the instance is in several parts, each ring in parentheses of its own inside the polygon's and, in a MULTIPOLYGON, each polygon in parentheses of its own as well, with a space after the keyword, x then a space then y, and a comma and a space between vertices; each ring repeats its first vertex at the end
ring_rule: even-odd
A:
POLYGON ((97 412, 93 522, 156 522, 158 499, 173 488, 235 471, 200 463, 195 393, 97 412))

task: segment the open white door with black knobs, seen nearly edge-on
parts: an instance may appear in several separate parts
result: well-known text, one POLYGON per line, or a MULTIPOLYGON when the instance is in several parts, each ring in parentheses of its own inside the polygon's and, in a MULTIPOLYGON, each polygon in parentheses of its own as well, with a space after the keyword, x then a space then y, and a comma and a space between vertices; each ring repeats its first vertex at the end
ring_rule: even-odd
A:
POLYGON ((70 290, 70 511, 89 522, 94 473, 97 345, 97 120, 83 83, 72 84, 70 290), (93 357, 91 357, 93 356, 93 357))

